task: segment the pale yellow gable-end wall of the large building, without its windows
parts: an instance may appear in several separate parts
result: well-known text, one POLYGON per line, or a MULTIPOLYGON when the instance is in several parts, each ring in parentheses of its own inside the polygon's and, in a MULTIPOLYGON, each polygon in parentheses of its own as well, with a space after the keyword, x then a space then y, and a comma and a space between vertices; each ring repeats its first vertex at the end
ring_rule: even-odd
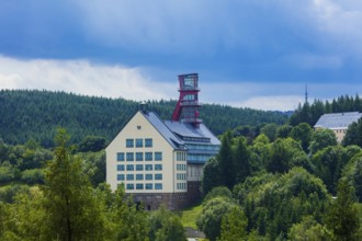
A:
MULTIPOLYGON (((106 182, 111 185, 112 190, 115 190, 117 184, 121 183, 116 180, 117 173, 133 173, 135 175, 135 181, 124 181, 124 184, 134 183, 135 190, 127 191, 126 193, 173 193, 176 190, 176 152, 173 151, 172 146, 158 133, 158 130, 145 118, 145 116, 138 112, 121 130, 121 133, 115 137, 115 139, 106 148, 106 182), (137 128, 137 126, 140 128, 137 128), (152 138, 152 148, 146 148, 145 142, 143 148, 126 148, 126 139, 132 138, 152 138), (117 162, 116 153, 117 152, 146 152, 146 151, 161 151, 162 152, 162 161, 136 161, 127 162, 124 161, 124 164, 162 164, 162 171, 123 171, 117 172, 117 162), (162 173, 162 181, 136 181, 136 173, 162 173), (155 183, 162 183, 162 190, 155 190, 155 183), (154 183, 152 190, 136 190, 136 183, 154 183)), ((135 156, 136 159, 136 156, 135 156)), ((145 159, 145 157, 144 157, 145 159)), ((145 176, 144 176, 145 177, 145 176)))

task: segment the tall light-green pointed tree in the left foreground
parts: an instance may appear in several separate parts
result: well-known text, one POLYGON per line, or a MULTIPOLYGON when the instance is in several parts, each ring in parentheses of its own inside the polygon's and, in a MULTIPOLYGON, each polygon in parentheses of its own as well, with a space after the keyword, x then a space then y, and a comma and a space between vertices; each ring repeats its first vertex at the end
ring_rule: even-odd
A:
POLYGON ((70 137, 58 129, 55 159, 45 174, 45 206, 49 217, 47 239, 102 240, 104 221, 79 159, 71 156, 70 137))

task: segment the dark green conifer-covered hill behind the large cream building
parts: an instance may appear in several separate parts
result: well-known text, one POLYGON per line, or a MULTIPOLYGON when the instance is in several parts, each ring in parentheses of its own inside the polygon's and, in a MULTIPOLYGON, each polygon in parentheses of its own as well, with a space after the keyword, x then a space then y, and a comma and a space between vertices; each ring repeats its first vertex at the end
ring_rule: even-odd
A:
MULTIPOLYGON (((176 101, 151 101, 149 110, 169 119, 176 101)), ((82 96, 65 92, 1 90, 0 139, 7 144, 24 144, 33 138, 44 147, 53 146, 57 127, 65 127, 78 144, 86 136, 112 140, 137 112, 138 102, 124 99, 82 96)), ((201 118, 216 135, 240 125, 283 124, 281 112, 205 104, 201 118)))

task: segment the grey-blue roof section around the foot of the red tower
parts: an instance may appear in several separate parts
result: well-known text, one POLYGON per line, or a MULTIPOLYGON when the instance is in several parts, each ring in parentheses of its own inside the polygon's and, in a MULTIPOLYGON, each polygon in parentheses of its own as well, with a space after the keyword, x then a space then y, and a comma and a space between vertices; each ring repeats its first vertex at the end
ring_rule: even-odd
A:
POLYGON ((208 142, 211 145, 220 145, 220 141, 203 123, 200 124, 199 128, 195 128, 190 123, 183 122, 165 120, 165 124, 168 126, 169 129, 171 129, 172 133, 180 136, 185 142, 199 142, 202 139, 207 139, 207 141, 202 142, 208 142), (194 139, 194 141, 192 139, 194 139))

